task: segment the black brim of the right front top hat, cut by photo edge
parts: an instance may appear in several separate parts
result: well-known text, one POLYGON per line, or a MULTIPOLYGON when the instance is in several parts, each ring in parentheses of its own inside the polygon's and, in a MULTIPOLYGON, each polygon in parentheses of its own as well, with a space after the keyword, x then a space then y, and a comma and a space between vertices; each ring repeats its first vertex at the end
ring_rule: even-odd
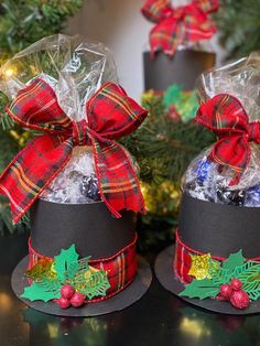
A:
MULTIPOLYGON (((164 289, 178 295, 184 290, 185 285, 178 280, 173 271, 174 255, 175 246, 171 246, 160 252, 155 260, 154 270, 159 282, 164 286, 164 289)), ((180 296, 180 299, 193 305, 221 314, 247 315, 260 313, 260 300, 251 302, 245 310, 238 310, 232 307, 229 302, 217 301, 214 299, 199 300, 186 296, 180 296)))

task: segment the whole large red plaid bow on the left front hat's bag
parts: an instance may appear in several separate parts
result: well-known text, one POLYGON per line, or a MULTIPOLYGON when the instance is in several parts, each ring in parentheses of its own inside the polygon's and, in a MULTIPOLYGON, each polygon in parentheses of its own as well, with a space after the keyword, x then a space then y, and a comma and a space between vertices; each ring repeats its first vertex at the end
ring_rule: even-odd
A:
POLYGON ((118 85, 105 84, 87 102, 86 119, 72 121, 47 83, 35 79, 20 90, 10 117, 44 134, 31 140, 0 176, 0 193, 11 203, 17 223, 72 156, 73 147, 91 145, 102 201, 120 217, 121 209, 144 212, 138 177, 128 152, 113 139, 134 131, 147 110, 118 85))

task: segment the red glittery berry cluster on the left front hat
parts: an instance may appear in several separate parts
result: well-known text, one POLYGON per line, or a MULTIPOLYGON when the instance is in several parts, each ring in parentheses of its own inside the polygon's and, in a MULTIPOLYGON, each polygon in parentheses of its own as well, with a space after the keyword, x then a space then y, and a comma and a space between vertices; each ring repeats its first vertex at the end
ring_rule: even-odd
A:
POLYGON ((64 284, 61 289, 62 296, 56 300, 56 303, 61 309, 67 309, 71 305, 74 307, 79 307, 84 304, 86 296, 83 293, 74 291, 71 284, 64 284))

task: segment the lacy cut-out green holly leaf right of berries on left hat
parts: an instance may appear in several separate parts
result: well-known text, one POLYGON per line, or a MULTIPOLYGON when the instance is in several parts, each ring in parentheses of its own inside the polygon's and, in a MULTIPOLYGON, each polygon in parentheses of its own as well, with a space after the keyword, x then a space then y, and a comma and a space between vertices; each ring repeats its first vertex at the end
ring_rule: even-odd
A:
POLYGON ((85 294, 88 299, 105 296, 110 283, 107 273, 88 264, 88 258, 78 261, 79 268, 75 272, 72 284, 77 292, 85 294))

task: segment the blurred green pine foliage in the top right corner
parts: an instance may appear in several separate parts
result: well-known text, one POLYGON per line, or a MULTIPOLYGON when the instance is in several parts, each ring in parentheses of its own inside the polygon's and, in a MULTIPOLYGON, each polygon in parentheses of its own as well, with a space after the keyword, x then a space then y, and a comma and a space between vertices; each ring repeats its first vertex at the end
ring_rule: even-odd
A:
POLYGON ((228 57, 237 58, 260 51, 259 0, 220 0, 215 20, 228 57))

